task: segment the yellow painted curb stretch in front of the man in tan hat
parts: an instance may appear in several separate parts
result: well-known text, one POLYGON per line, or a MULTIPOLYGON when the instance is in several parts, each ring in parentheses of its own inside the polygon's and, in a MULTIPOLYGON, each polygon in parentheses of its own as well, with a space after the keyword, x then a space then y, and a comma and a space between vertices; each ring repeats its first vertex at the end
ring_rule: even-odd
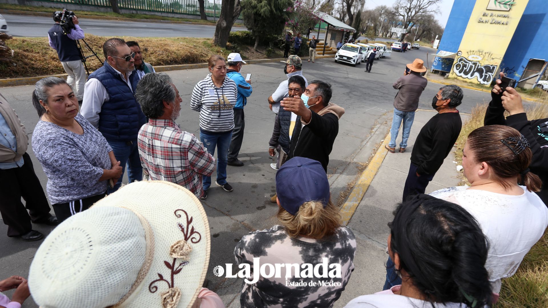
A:
POLYGON ((356 209, 358 208, 359 202, 361 202, 363 196, 366 195, 369 185, 375 178, 376 173, 379 171, 379 168, 388 153, 388 150, 384 147, 388 144, 388 142, 390 142, 390 133, 388 133, 384 138, 383 143, 376 151, 373 159, 371 159, 367 165, 366 170, 364 170, 362 175, 359 176, 359 179, 356 181, 356 185, 352 188, 348 199, 341 207, 340 214, 344 225, 349 223, 352 215, 354 215, 354 212, 356 212, 356 209))

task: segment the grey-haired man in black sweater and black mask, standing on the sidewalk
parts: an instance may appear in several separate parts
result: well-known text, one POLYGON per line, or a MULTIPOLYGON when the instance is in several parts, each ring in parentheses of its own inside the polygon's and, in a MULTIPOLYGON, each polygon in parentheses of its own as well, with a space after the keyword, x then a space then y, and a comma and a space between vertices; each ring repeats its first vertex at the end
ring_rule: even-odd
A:
POLYGON ((433 116, 420 130, 411 153, 411 164, 403 188, 403 201, 407 196, 424 193, 443 159, 455 144, 463 123, 456 107, 463 100, 463 90, 454 84, 444 85, 432 99, 433 116))

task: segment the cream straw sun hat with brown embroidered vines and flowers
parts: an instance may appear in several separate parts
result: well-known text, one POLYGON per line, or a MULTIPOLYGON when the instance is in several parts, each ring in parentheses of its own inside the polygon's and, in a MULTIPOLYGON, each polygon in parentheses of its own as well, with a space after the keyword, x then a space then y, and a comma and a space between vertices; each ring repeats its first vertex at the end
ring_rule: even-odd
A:
POLYGON ((193 193, 134 182, 56 227, 28 285, 41 308, 190 307, 209 252, 209 223, 193 193))

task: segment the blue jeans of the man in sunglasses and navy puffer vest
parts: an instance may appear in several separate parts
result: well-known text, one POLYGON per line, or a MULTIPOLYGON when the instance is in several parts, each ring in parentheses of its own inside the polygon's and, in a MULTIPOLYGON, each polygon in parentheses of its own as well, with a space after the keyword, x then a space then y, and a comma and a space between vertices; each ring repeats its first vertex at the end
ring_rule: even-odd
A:
POLYGON ((109 142, 109 145, 112 147, 116 160, 119 161, 120 166, 122 166, 122 176, 120 176, 113 189, 109 188, 109 190, 107 190, 107 193, 117 191, 122 185, 126 164, 128 167, 129 182, 141 181, 142 166, 141 159, 139 158, 139 149, 137 148, 137 139, 133 141, 107 140, 107 142, 109 142))

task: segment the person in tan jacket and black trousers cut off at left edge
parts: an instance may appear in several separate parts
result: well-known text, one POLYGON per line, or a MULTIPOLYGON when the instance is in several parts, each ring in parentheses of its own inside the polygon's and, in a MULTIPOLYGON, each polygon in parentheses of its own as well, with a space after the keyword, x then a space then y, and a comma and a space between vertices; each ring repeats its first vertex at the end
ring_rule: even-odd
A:
POLYGON ((0 214, 9 237, 38 241, 44 236, 32 230, 33 223, 57 225, 49 213, 48 200, 26 153, 28 135, 15 110, 0 94, 0 214), (26 208, 21 203, 25 199, 26 208))

